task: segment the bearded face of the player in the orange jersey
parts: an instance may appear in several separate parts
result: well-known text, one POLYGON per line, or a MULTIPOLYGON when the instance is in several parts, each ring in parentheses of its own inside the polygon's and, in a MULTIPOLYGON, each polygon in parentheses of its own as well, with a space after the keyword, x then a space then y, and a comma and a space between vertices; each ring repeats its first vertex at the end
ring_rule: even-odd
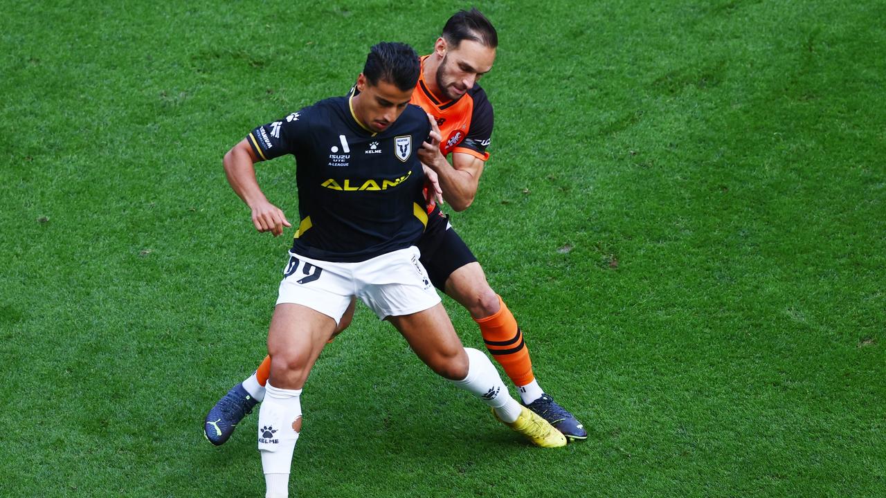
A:
POLYGON ((441 97, 455 100, 489 72, 495 61, 495 49, 472 40, 462 40, 455 50, 448 49, 435 78, 441 97))

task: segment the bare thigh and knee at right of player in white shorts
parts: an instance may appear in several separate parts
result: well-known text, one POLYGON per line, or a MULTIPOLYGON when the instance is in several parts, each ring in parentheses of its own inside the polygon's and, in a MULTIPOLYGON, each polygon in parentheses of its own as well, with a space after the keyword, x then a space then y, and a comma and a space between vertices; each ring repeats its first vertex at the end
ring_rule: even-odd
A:
POLYGON ((388 316, 387 320, 431 370, 451 380, 467 377, 468 355, 441 303, 411 315, 388 316))

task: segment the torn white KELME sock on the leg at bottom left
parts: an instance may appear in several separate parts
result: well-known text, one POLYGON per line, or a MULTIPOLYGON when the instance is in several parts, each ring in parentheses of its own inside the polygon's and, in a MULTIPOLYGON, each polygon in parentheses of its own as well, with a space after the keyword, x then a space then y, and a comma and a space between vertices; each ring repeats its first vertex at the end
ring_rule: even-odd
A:
POLYGON ((299 440, 299 432, 292 424, 301 418, 301 389, 278 389, 268 382, 266 391, 268 395, 259 412, 258 434, 265 495, 285 497, 289 494, 292 452, 299 440))

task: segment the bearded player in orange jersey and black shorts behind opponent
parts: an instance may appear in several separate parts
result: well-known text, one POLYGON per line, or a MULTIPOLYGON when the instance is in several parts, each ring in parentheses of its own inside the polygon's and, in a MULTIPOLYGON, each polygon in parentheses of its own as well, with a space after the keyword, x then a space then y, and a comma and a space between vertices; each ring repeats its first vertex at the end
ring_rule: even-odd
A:
MULTIPOLYGON (((422 162, 439 178, 444 200, 455 211, 470 206, 489 153, 493 107, 478 85, 494 64, 498 36, 492 23, 477 9, 448 19, 431 54, 422 58, 422 70, 411 103, 432 118, 431 135, 424 143, 422 162), (447 161, 451 156, 451 163, 447 161)), ((429 206, 424 235, 416 244, 431 283, 465 307, 478 323, 486 349, 517 386, 528 409, 544 417, 569 440, 587 439, 587 431, 572 414, 545 393, 532 371, 523 332, 501 297, 486 282, 477 258, 455 233, 439 206, 429 206)), ((354 302, 338 325, 344 330, 354 313, 354 302)), ((270 362, 262 362, 253 376, 235 385, 206 416, 204 432, 215 445, 229 439, 236 424, 264 397, 270 362)))

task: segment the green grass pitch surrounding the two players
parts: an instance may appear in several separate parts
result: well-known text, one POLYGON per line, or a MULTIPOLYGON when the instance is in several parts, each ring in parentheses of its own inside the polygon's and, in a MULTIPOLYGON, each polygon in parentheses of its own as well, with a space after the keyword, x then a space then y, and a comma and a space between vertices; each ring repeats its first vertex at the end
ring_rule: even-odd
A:
MULTIPOLYGON (((221 156, 470 4, 2 4, 0 496, 263 495, 256 414, 201 424, 265 354, 291 231, 221 156)), ((886 495, 886 4, 477 6, 496 124, 453 222, 589 438, 526 446, 361 306, 295 495, 886 495)), ((259 180, 296 218, 291 161, 259 180)))

